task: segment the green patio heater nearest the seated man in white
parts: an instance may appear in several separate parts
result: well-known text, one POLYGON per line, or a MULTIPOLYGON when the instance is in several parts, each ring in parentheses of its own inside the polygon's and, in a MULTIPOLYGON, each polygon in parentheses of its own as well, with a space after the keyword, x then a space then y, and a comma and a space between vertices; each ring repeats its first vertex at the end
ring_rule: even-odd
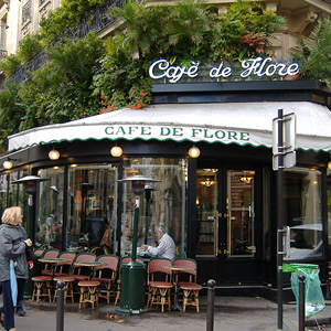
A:
POLYGON ((122 183, 131 183, 135 200, 135 218, 134 218, 134 234, 132 234, 132 258, 131 261, 121 266, 120 275, 120 301, 117 312, 139 314, 147 312, 145 308, 145 269, 146 266, 136 261, 137 258, 137 232, 139 221, 139 196, 145 191, 145 185, 148 182, 159 182, 159 180, 143 177, 132 175, 122 180, 122 183))

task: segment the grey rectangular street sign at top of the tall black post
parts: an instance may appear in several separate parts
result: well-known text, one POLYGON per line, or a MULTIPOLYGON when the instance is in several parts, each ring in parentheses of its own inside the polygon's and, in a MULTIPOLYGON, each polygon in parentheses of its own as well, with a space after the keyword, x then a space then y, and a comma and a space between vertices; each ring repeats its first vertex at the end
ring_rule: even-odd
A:
POLYGON ((297 136, 297 120, 296 114, 287 114, 282 118, 274 118, 273 120, 273 169, 279 169, 279 154, 282 154, 284 168, 291 168, 296 166, 296 136, 297 136), (282 146, 278 145, 278 124, 282 124, 282 146))

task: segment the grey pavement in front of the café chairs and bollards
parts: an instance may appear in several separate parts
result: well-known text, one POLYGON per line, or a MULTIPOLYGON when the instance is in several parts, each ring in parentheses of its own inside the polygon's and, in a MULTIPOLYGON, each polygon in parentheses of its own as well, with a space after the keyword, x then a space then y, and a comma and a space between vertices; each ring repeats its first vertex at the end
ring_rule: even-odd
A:
MULTIPOLYGON (((2 301, 2 298, 1 298, 2 301)), ((56 305, 24 301, 25 317, 15 317, 18 331, 55 331, 56 330, 56 305)), ((189 330, 202 331, 206 329, 206 297, 201 297, 201 312, 189 308, 185 313, 179 311, 160 312, 156 309, 140 314, 118 314, 115 306, 106 305, 105 301, 93 311, 90 308, 78 310, 78 303, 65 306, 64 330, 65 331, 114 331, 114 330, 143 330, 143 331, 169 331, 189 330), (108 314, 108 318, 107 318, 108 314), (109 314, 117 314, 119 320, 109 319, 109 314)), ((215 297, 214 330, 224 331, 271 331, 277 329, 277 303, 261 298, 243 297, 215 297)), ((331 317, 331 301, 327 302, 323 311, 316 316, 317 319, 331 317)), ((310 318, 314 320, 314 317, 310 318)), ((298 317, 296 305, 284 305, 284 331, 298 330, 298 317)), ((319 330, 307 328, 307 330, 319 330)), ((322 330, 322 329, 320 329, 322 330)), ((331 324, 324 330, 331 330, 331 324)))

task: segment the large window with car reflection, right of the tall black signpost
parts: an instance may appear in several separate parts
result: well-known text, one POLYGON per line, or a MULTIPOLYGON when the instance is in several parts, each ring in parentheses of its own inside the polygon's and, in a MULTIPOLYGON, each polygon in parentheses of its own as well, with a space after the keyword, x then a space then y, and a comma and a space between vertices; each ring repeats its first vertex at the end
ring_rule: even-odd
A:
POLYGON ((285 224, 289 226, 287 259, 322 256, 321 172, 295 168, 284 173, 285 224))

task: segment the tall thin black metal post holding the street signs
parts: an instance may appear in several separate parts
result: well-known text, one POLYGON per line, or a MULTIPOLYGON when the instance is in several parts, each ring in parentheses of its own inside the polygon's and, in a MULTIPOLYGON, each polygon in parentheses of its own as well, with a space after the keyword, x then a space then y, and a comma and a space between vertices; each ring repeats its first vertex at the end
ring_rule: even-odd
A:
POLYGON ((278 330, 282 330, 282 255, 284 255, 284 138, 282 109, 278 109, 278 171, 277 171, 277 299, 278 330))

